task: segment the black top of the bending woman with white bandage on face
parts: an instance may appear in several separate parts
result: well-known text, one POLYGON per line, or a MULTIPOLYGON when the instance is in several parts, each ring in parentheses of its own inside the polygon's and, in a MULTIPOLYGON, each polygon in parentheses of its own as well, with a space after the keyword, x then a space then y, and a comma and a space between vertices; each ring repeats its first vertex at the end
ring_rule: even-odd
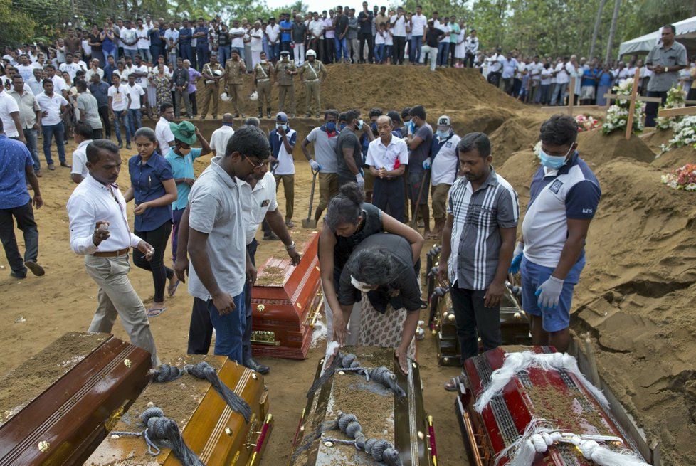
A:
MULTIPOLYGON (((388 253, 396 262, 396 277, 389 283, 380 285, 376 290, 367 292, 367 299, 377 312, 384 313, 387 305, 394 309, 406 308, 409 312, 418 312, 421 309, 421 288, 418 286, 418 274, 420 273, 420 260, 413 265, 413 250, 403 236, 389 233, 376 233, 365 238, 357 245, 353 254, 360 250, 381 250, 388 253), (391 296, 391 292, 399 290, 399 294, 391 296)), ((362 293, 351 283, 349 266, 353 255, 341 272, 338 287, 338 302, 345 306, 353 305, 362 297, 362 293)))

